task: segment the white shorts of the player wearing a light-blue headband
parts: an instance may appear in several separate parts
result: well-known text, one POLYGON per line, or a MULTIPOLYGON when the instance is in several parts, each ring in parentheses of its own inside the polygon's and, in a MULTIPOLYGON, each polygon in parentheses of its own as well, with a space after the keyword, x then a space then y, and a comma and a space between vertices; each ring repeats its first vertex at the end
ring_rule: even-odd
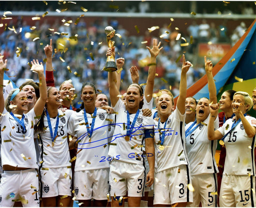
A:
POLYGON ((13 206, 20 200, 23 206, 39 207, 38 174, 34 168, 4 170, 0 182, 0 206, 13 206))

